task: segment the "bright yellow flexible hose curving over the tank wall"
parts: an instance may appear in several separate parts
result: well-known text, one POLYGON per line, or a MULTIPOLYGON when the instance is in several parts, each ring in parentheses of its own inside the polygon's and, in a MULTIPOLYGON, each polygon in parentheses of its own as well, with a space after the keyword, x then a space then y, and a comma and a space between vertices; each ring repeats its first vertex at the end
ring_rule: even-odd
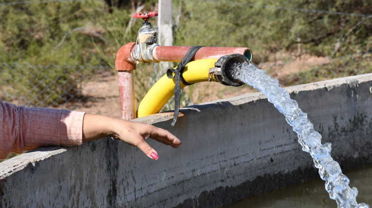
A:
MULTIPOLYGON (((218 59, 201 59, 186 64, 182 76, 189 84, 208 81, 209 69, 214 67, 218 59)), ((217 80, 212 75, 212 80, 217 80)), ((181 84, 181 89, 186 85, 181 84)), ((175 91, 175 78, 170 79, 164 75, 155 83, 142 99, 137 109, 137 117, 143 117, 159 112, 162 107, 172 98, 175 91)))

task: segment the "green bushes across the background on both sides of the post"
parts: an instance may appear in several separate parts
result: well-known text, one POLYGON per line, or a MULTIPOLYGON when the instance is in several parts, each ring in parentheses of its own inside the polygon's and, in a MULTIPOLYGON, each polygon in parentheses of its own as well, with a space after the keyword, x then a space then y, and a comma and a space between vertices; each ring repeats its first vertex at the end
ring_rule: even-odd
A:
MULTIPOLYGON (((63 65, 88 63, 113 68, 116 52, 136 40, 141 26, 141 21, 135 21, 134 26, 130 23, 133 10, 139 4, 145 4, 143 11, 157 10, 156 2, 85 0, 0 4, 0 63, 62 66, 55 72, 52 67, 50 73, 66 71, 63 65)), ((174 45, 249 47, 256 64, 269 60, 277 52, 296 51, 298 43, 304 53, 336 58, 336 63, 331 62, 335 67, 345 66, 337 58, 372 51, 370 0, 173 0, 173 7, 174 45)), ((151 23, 156 25, 156 18, 151 23)), ((357 71, 360 63, 350 67, 357 71)), ((135 72, 136 86, 143 85, 144 89, 149 86, 142 80, 153 73, 151 68, 146 70, 135 72)), ((0 79, 7 76, 9 70, 0 68, 0 79)), ((301 76, 294 77, 301 80, 301 76)), ((69 78, 64 77, 60 79, 69 78)), ((142 96, 143 92, 138 94, 142 96)), ((60 93, 51 97, 55 96, 63 97, 60 93)))

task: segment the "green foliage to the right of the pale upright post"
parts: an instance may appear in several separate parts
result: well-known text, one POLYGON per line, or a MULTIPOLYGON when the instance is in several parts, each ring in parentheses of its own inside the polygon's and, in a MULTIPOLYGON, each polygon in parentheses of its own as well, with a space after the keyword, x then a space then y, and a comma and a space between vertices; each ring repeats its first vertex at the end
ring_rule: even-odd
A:
POLYGON ((369 52, 369 0, 182 0, 177 43, 250 47, 254 61, 296 50, 329 56, 369 52), (361 22, 360 24, 358 24, 361 22))

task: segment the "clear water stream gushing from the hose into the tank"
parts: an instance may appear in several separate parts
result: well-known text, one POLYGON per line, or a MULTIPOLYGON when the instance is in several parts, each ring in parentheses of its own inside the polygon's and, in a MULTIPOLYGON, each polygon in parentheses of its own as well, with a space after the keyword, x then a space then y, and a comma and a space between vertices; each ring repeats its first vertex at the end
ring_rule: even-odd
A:
POLYGON ((338 208, 369 208, 365 203, 357 203, 358 190, 349 187, 349 178, 342 174, 340 165, 332 159, 331 144, 321 144, 321 135, 314 130, 307 114, 290 98, 289 93, 280 87, 276 78, 271 79, 266 71, 247 63, 235 63, 227 70, 230 70, 235 79, 261 91, 268 101, 285 115, 288 124, 298 134, 302 150, 310 153, 315 167, 319 169, 320 178, 325 181, 329 197, 336 201, 338 208))

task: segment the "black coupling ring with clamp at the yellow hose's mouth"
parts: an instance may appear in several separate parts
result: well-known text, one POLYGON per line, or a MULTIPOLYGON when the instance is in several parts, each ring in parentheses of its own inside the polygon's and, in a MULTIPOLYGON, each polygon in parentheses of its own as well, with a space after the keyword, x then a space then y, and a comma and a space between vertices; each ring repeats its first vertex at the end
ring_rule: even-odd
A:
POLYGON ((236 67, 237 63, 247 63, 249 60, 246 56, 234 53, 230 55, 224 55, 220 57, 213 68, 209 69, 208 81, 212 81, 213 77, 223 85, 239 87, 245 83, 239 79, 234 78, 232 75, 235 70, 239 70, 236 67))

